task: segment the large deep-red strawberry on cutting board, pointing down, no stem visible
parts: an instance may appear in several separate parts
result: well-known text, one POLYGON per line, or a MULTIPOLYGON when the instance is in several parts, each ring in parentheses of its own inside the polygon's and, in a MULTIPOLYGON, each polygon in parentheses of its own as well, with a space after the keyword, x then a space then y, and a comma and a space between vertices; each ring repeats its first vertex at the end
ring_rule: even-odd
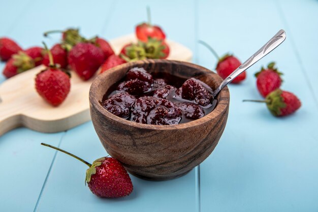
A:
POLYGON ((78 43, 69 52, 68 62, 83 80, 88 80, 104 62, 104 53, 91 43, 78 43))

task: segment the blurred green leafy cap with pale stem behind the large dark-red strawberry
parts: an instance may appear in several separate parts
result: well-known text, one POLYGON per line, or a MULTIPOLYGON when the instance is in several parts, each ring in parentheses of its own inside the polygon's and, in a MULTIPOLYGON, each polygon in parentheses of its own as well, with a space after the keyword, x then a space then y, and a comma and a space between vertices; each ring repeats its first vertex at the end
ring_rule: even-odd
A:
POLYGON ((85 42, 86 39, 82 37, 79 33, 79 29, 76 28, 68 28, 65 31, 61 30, 53 30, 53 31, 48 31, 44 33, 43 35, 47 37, 51 33, 62 33, 62 44, 67 49, 70 51, 73 46, 75 46, 78 43, 85 42))

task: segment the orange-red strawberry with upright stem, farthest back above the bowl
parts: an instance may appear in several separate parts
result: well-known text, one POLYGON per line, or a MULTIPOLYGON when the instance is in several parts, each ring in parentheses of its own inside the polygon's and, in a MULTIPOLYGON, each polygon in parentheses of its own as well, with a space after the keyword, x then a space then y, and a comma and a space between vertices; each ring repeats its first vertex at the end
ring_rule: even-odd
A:
POLYGON ((144 22, 136 26, 136 36, 138 40, 147 42, 149 37, 157 39, 157 40, 165 40, 166 35, 161 29, 161 27, 151 24, 149 8, 147 8, 147 16, 148 16, 147 23, 144 22))

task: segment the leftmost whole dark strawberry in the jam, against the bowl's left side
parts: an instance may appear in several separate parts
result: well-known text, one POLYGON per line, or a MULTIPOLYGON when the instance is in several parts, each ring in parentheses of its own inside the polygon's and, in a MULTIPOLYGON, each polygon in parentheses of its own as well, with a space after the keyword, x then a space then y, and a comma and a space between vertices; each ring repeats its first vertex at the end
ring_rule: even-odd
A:
POLYGON ((103 107, 109 112, 122 118, 130 116, 136 98, 127 93, 118 93, 103 102, 103 107))

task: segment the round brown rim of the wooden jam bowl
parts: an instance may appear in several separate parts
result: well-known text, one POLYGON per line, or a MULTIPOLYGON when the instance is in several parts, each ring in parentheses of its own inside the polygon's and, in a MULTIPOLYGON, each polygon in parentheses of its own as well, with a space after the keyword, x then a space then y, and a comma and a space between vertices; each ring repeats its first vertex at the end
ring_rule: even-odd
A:
POLYGON ((196 120, 192 120, 191 122, 187 122, 187 123, 182 123, 182 124, 178 124, 178 125, 148 125, 148 124, 141 124, 141 123, 136 123, 136 122, 132 122, 130 120, 118 117, 114 114, 112 114, 111 112, 109 112, 108 110, 106 110, 99 102, 98 98, 95 98, 96 95, 96 90, 98 89, 98 86, 100 84, 100 82, 102 82, 105 78, 108 77, 108 75, 110 75, 113 72, 122 70, 122 69, 131 69, 135 66, 141 66, 143 64, 153 64, 153 63, 158 63, 158 64, 166 64, 166 63, 176 63, 176 65, 182 65, 182 66, 187 66, 193 69, 198 69, 201 71, 208 71, 210 72, 214 77, 216 82, 218 82, 219 84, 223 81, 222 78, 216 74, 215 72, 204 68, 202 66, 196 65, 196 64, 192 64, 192 63, 188 63, 188 62, 181 62, 181 61, 177 61, 177 60, 168 60, 168 59, 144 59, 144 60, 137 60, 135 62, 129 62, 129 63, 125 63, 119 66, 116 66, 114 68, 109 69, 108 71, 99 74, 92 82, 90 89, 89 89, 89 102, 90 102, 90 107, 94 107, 96 108, 101 114, 103 114, 104 116, 106 116, 106 118, 110 118, 112 119, 114 122, 119 122, 120 124, 123 125, 128 125, 130 127, 135 127, 135 128, 140 128, 140 129, 149 129, 149 130, 175 130, 175 129, 185 129, 188 127, 194 127, 194 126, 198 126, 198 125, 202 125, 206 122, 209 122, 210 120, 216 118, 218 115, 224 113, 227 108, 229 107, 229 103, 230 103, 230 92, 228 87, 226 86, 225 88, 223 88, 220 93, 217 96, 217 104, 215 106, 215 108, 207 115, 203 116, 202 118, 198 118, 196 120))

